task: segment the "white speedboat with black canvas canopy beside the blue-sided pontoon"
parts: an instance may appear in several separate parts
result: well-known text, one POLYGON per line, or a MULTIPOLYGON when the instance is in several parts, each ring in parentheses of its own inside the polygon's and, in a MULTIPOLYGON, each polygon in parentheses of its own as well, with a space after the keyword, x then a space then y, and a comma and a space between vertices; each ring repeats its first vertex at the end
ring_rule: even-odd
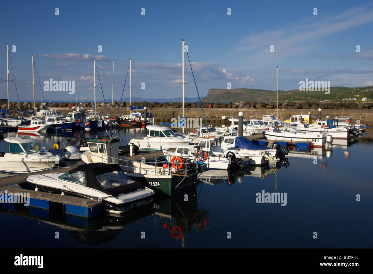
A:
POLYGON ((32 175, 27 182, 35 190, 100 199, 102 210, 117 214, 153 203, 155 194, 127 177, 118 164, 84 164, 66 173, 32 175))

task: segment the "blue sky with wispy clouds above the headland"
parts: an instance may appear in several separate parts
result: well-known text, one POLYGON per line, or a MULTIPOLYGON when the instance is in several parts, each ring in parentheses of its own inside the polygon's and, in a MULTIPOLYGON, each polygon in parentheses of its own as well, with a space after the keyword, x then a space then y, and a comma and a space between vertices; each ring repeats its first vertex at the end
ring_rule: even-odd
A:
MULTIPOLYGON (((111 101, 112 89, 120 100, 130 58, 134 101, 181 97, 182 38, 201 98, 228 83, 276 90, 276 66, 279 90, 306 78, 373 85, 372 1, 3 1, 0 15, 0 98, 9 42, 10 101, 17 101, 15 83, 19 100, 32 100, 31 54, 37 101, 51 78, 75 81, 75 90, 43 90, 46 101, 93 101, 93 59, 97 101, 111 101)), ((197 97, 186 53, 185 82, 185 97, 197 97)))

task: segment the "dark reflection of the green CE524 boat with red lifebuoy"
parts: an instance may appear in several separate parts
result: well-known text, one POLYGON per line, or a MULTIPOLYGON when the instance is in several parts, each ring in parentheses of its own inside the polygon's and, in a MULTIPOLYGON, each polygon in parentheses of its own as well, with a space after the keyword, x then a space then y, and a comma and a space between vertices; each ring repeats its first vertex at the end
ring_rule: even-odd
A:
POLYGON ((180 241, 186 247, 188 238, 194 238, 209 231, 209 211, 197 202, 197 190, 186 193, 188 196, 169 197, 154 201, 154 229, 166 237, 180 241), (186 202, 186 197, 188 202, 186 202))

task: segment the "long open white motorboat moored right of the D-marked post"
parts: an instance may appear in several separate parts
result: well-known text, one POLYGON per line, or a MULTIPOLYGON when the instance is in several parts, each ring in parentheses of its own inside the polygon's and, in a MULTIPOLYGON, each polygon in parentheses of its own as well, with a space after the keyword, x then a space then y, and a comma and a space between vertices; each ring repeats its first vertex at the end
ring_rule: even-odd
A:
MULTIPOLYGON (((326 144, 326 134, 320 132, 302 132, 295 127, 292 128, 282 128, 277 127, 263 130, 261 132, 268 140, 270 141, 279 141, 279 142, 294 142, 295 145, 297 142, 311 142, 313 147, 325 147, 326 144)), ((332 137, 328 138, 328 143, 333 141, 332 137)))

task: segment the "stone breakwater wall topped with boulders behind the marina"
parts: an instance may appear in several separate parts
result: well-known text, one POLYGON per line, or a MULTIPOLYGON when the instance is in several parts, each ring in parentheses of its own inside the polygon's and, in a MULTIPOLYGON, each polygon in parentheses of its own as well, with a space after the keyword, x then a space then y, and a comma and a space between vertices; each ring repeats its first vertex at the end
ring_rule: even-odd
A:
MULTIPOLYGON (((22 111, 32 110, 32 103, 25 102, 21 103, 22 111)), ((53 103, 48 104, 49 108, 53 108, 57 111, 67 114, 69 111, 72 111, 72 107, 76 105, 75 102, 71 103, 53 103), (70 107, 69 107, 70 106, 70 107)), ((146 106, 149 111, 153 114, 156 120, 160 122, 170 121, 171 118, 182 115, 181 103, 148 103, 148 102, 137 102, 132 103, 132 105, 137 105, 138 107, 146 106)), ((232 103, 203 103, 204 113, 206 119, 210 123, 220 123, 222 121, 222 116, 230 118, 232 116, 237 116, 239 111, 244 112, 245 119, 258 118, 261 119, 263 114, 276 115, 276 104, 272 102, 232 102, 232 103), (211 108, 209 108, 211 105, 211 108), (268 107, 267 107, 268 105, 268 107)), ((90 110, 93 108, 93 104, 89 102, 82 103, 82 106, 85 110, 90 110)), ((1 105, 2 109, 6 109, 7 105, 1 105)), ((37 103, 37 107, 41 108, 41 103, 37 103)), ((98 111, 101 111, 103 115, 106 115, 106 107, 113 108, 113 116, 119 114, 129 113, 129 102, 114 102, 113 106, 111 103, 97 103, 96 108, 98 111), (118 113, 119 105, 121 106, 118 113)), ((19 116, 18 104, 13 102, 9 105, 10 116, 19 116)), ((307 114, 311 112, 311 115, 314 116, 313 119, 316 119, 317 109, 322 109, 322 116, 329 116, 334 118, 335 116, 349 116, 352 120, 361 120, 363 123, 373 123, 373 103, 370 102, 317 102, 317 101, 303 101, 303 102, 283 102, 279 103, 279 118, 280 119, 289 119, 289 116, 304 113, 307 114)), ((185 103, 185 116, 186 117, 202 117, 201 105, 200 103, 185 103)))

